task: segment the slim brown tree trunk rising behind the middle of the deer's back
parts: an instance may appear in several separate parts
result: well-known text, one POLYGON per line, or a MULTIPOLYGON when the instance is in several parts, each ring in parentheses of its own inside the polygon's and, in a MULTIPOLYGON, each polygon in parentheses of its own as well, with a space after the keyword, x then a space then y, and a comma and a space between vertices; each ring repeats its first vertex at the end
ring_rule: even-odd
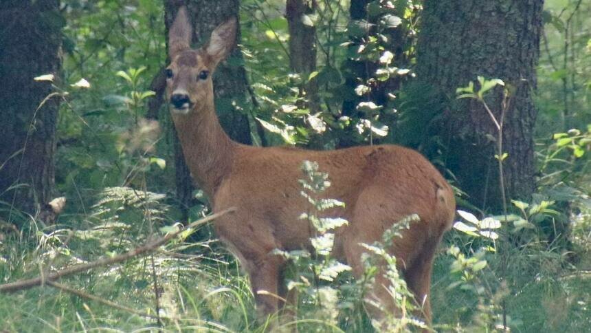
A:
POLYGON ((285 5, 289 25, 289 67, 300 74, 304 82, 300 87, 300 96, 304 96, 304 105, 312 114, 320 111, 317 81, 306 83, 316 70, 316 28, 305 18, 313 14, 315 8, 315 0, 287 0, 285 5))

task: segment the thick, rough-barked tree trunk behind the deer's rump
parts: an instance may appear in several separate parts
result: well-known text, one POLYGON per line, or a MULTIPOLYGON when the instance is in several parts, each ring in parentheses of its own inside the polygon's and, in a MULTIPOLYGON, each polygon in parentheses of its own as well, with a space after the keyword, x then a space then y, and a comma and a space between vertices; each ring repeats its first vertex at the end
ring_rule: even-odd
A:
MULTIPOLYGON (((419 82, 449 103, 438 126, 447 145, 447 167, 469 201, 485 209, 502 207, 497 160, 498 131, 475 100, 455 100, 456 88, 476 76, 501 78, 515 87, 504 119, 504 183, 507 197, 529 200, 535 189, 533 126, 535 67, 542 31, 543 0, 426 0, 419 36, 419 82)), ((487 97, 497 119, 502 89, 487 97)), ((428 112, 428 110, 423 110, 428 112)))

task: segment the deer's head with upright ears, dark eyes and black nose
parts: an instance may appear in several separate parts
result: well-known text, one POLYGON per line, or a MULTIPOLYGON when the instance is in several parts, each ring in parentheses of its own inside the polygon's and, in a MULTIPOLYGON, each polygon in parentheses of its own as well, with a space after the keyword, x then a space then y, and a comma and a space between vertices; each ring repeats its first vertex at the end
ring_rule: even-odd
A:
POLYGON ((212 74, 234 45, 236 19, 219 25, 210 41, 198 50, 190 47, 192 27, 181 7, 168 35, 170 66, 166 68, 167 96, 176 115, 199 112, 213 105, 212 74))

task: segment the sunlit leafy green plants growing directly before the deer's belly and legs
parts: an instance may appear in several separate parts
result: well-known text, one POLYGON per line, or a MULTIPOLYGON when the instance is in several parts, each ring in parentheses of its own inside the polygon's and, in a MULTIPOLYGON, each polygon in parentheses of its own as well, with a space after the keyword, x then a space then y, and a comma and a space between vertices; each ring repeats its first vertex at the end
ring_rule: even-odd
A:
MULTIPOLYGON (((388 251, 395 239, 402 237, 402 231, 419 217, 412 215, 394 224, 386 230, 382 241, 361 244, 367 250, 362 258, 364 274, 353 282, 348 274, 351 268, 331 257, 335 229, 346 226, 348 222, 340 217, 325 216, 337 215, 338 209, 344 204, 325 197, 323 193, 331 183, 328 174, 319 171, 316 162, 304 161, 302 172, 304 178, 298 182, 302 186, 302 197, 309 202, 310 209, 302 213, 300 219, 305 219, 310 224, 313 251, 275 250, 277 255, 293 261, 293 277, 288 288, 295 288, 300 295, 298 308, 295 309, 298 310, 298 317, 302 318, 298 325, 320 320, 324 325, 315 326, 316 330, 322 330, 323 327, 333 327, 333 330, 339 325, 348 327, 350 332, 366 331, 370 327, 365 312, 366 308, 371 307, 381 312, 380 320, 374 319, 371 322, 376 330, 405 332, 412 327, 425 328, 425 323, 414 318, 414 313, 420 311, 420 308, 397 269, 396 258, 388 251), (386 308, 381 300, 371 294, 370 286, 375 285, 378 277, 388 283, 387 292, 399 312, 393 313, 391 308, 386 308)), ((312 330, 311 327, 306 326, 306 329, 312 330)))

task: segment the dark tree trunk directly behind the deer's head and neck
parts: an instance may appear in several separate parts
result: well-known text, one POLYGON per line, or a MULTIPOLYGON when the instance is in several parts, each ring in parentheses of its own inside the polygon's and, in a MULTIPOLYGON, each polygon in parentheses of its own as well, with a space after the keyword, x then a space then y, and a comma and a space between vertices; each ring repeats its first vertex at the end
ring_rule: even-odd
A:
MULTIPOLYGON (((238 17, 238 0, 188 0, 185 2, 194 27, 194 47, 209 41, 210 34, 218 25, 230 17, 238 17)), ((172 25, 179 8, 178 3, 179 1, 175 0, 165 0, 164 2, 167 39, 168 28, 172 25)), ((240 43, 239 31, 236 43, 240 43)), ((214 74, 216 111, 223 129, 230 138, 241 143, 251 144, 249 121, 247 116, 241 113, 241 109, 252 108, 247 98, 246 72, 242 64, 243 56, 238 48, 234 48, 229 59, 216 69, 214 74)), ((194 186, 192 186, 191 176, 177 138, 175 138, 175 166, 177 195, 183 208, 188 208, 194 204, 192 197, 194 186)))

